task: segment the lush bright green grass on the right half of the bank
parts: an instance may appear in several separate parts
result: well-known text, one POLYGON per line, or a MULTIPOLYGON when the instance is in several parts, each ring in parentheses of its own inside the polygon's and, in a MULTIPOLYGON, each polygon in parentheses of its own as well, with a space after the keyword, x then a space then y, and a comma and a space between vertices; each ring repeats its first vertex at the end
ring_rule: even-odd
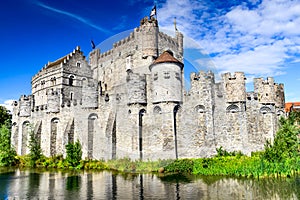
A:
POLYGON ((258 156, 181 159, 165 167, 168 172, 242 177, 290 177, 299 174, 300 158, 271 163, 258 156))

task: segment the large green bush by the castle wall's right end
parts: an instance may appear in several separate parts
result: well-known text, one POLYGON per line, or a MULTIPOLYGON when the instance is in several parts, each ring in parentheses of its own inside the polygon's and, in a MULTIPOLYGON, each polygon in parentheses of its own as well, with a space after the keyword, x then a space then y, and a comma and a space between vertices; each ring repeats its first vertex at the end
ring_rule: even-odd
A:
POLYGON ((291 114, 289 118, 280 119, 280 128, 276 133, 273 144, 267 141, 263 158, 268 162, 284 162, 300 156, 299 133, 300 129, 294 125, 296 116, 291 114))

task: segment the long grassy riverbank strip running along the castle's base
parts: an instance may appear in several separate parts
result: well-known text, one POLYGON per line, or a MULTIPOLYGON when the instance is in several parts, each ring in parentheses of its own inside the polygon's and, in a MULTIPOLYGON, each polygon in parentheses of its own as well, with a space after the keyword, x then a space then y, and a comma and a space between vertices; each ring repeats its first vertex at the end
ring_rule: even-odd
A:
MULTIPOLYGON (((18 156, 18 167, 29 167, 27 156, 18 156)), ((268 162, 253 155, 216 156, 178 160, 140 161, 128 158, 100 161, 81 160, 75 167, 62 156, 43 157, 36 161, 37 168, 114 170, 126 173, 189 173, 195 175, 238 176, 238 177, 293 177, 299 175, 300 158, 290 158, 282 162, 268 162)))

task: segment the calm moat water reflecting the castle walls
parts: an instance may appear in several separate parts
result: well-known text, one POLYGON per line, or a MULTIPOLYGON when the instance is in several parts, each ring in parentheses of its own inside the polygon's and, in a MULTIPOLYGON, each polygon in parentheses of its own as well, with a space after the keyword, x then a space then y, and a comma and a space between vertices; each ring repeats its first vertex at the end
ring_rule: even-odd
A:
POLYGON ((300 178, 0 168, 0 199, 300 199, 300 178))

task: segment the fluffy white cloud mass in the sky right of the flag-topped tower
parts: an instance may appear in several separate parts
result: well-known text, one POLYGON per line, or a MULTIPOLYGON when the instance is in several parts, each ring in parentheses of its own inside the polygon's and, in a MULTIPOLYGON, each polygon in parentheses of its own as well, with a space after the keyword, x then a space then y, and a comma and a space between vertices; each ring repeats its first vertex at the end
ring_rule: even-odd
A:
POLYGON ((299 60, 300 2, 249 3, 255 6, 243 2, 225 8, 208 0, 167 0, 159 9, 158 20, 162 27, 172 29, 176 17, 178 29, 211 55, 219 71, 244 71, 256 76, 284 74, 287 60, 299 60))

